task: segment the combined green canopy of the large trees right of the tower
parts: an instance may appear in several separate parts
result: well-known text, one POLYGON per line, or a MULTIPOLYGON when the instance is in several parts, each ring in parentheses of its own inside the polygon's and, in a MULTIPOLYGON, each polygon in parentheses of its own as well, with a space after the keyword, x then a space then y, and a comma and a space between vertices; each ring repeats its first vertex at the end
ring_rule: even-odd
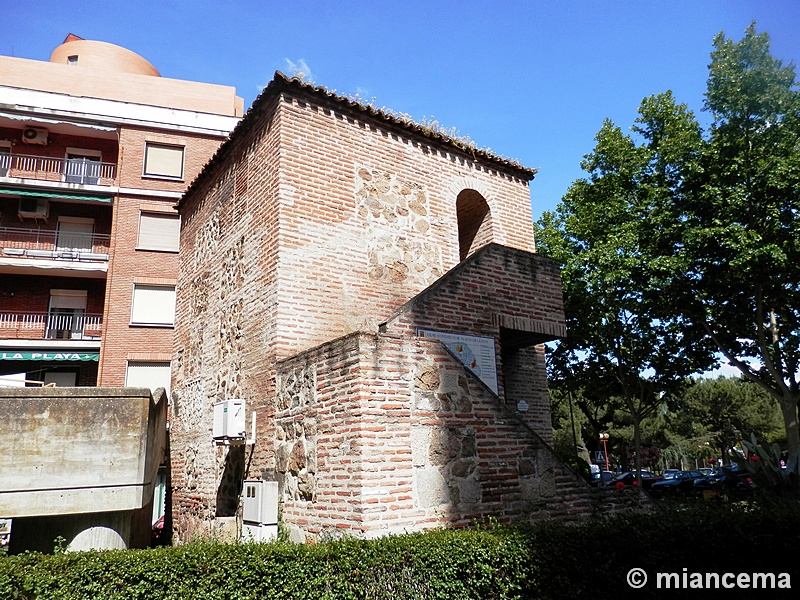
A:
POLYGON ((751 25, 711 53, 704 131, 671 92, 632 133, 606 121, 539 249, 561 261, 556 380, 624 399, 636 424, 721 353, 781 406, 800 454, 800 94, 751 25))

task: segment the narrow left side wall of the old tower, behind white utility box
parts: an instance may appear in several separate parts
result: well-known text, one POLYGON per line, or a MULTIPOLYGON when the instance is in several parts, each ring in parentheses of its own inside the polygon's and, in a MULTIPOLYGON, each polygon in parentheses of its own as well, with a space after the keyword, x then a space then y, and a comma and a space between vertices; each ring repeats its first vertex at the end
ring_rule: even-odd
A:
MULTIPOLYGON (((171 429, 179 540, 236 512, 243 455, 212 445, 213 404, 245 398, 248 419, 258 412, 256 439, 274 435, 280 178, 275 109, 262 109, 264 129, 181 210, 171 429)), ((274 468, 271 445, 259 441, 248 461, 251 475, 274 468)))

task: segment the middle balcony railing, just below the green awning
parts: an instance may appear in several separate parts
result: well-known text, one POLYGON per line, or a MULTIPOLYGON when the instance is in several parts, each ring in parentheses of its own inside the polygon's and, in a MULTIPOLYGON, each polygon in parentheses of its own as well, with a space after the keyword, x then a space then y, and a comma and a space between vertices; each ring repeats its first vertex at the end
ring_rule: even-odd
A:
POLYGON ((111 236, 25 227, 0 227, 4 256, 72 261, 108 261, 111 236))

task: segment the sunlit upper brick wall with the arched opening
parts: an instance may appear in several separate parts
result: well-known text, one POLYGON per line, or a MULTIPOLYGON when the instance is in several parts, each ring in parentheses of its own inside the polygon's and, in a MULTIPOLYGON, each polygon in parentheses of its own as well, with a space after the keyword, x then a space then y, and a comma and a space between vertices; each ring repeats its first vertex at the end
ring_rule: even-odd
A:
POLYGON ((485 242, 533 250, 527 177, 301 93, 280 113, 281 356, 374 330, 457 265, 465 189, 491 211, 485 242))

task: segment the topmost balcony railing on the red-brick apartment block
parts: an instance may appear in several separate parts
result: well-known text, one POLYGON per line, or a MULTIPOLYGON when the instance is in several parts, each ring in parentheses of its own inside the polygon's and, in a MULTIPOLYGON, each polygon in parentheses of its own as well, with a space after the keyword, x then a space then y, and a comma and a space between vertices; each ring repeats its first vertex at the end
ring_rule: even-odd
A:
POLYGON ((64 181, 82 185, 114 185, 117 165, 95 161, 88 157, 57 158, 2 152, 0 177, 64 181))

